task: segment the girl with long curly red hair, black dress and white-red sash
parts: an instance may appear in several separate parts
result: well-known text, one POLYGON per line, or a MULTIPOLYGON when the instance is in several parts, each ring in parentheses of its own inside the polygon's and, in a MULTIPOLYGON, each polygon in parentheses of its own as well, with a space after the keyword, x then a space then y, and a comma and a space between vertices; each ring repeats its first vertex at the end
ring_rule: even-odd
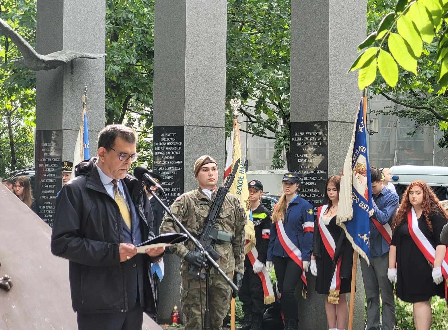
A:
POLYGON ((446 294, 448 256, 440 233, 447 214, 431 188, 417 180, 405 190, 394 223, 388 278, 396 283, 396 296, 414 304, 415 328, 429 330, 431 297, 446 294))

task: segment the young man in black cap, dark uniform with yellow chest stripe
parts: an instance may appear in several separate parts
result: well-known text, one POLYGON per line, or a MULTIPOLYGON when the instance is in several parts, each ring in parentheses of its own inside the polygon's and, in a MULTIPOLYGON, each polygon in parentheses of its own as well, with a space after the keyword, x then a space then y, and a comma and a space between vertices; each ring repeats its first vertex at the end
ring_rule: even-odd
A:
POLYGON ((239 330, 261 330, 264 313, 263 284, 258 275, 263 270, 266 262, 267 245, 269 244, 269 233, 271 232, 271 212, 261 202, 263 185, 258 180, 252 180, 249 186, 249 199, 254 219, 255 242, 258 257, 254 263, 246 254, 244 267, 246 271, 243 276, 243 284, 239 297, 243 303, 244 322, 239 330))

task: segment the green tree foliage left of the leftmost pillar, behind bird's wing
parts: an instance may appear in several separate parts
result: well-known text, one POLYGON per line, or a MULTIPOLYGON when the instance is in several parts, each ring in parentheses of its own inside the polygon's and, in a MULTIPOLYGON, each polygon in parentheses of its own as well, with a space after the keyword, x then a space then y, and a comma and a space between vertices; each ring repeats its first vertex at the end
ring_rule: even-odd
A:
MULTIPOLYGON (((35 46, 35 1, 1 2, 1 17, 35 46)), ((14 61, 22 55, 6 35, 0 34, 0 177, 32 166, 36 75, 14 61)))

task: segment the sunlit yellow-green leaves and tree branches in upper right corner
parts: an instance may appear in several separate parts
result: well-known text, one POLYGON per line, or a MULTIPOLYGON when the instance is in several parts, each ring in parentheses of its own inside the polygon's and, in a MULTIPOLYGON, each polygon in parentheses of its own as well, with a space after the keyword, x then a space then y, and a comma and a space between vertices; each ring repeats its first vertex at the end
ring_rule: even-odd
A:
POLYGON ((358 81, 361 88, 368 82, 365 75, 361 76, 361 70, 374 71, 373 66, 367 68, 367 58, 372 62, 376 59, 380 74, 374 77, 370 90, 405 107, 386 108, 377 113, 413 119, 416 125, 409 135, 424 125, 438 126, 444 131, 438 141, 441 148, 448 145, 447 84, 441 79, 441 68, 444 61, 448 61, 448 25, 443 18, 447 3, 439 0, 369 0, 367 33, 370 37, 358 46, 358 50, 370 47, 352 67, 360 68, 358 81), (409 25, 407 29, 406 24, 409 25), (380 65, 380 54, 389 51, 393 59, 380 65))

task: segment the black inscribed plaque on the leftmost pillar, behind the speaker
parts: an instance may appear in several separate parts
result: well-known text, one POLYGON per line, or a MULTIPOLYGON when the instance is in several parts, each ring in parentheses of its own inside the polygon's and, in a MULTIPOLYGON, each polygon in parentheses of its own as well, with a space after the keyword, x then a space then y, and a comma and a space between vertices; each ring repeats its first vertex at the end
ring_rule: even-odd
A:
POLYGON ((62 187, 62 131, 36 131, 35 155, 35 212, 52 227, 56 194, 62 187))

